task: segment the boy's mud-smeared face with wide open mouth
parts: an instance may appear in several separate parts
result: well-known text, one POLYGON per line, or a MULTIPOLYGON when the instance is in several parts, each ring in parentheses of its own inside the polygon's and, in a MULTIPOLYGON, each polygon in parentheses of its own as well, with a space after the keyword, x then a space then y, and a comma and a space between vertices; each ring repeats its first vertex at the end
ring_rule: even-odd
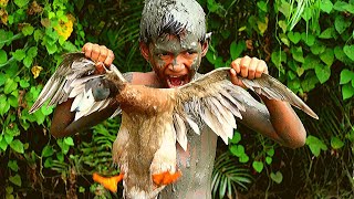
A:
POLYGON ((208 50, 194 34, 178 36, 163 34, 148 46, 140 45, 142 54, 149 61, 165 87, 178 87, 190 82, 197 72, 201 57, 208 50))

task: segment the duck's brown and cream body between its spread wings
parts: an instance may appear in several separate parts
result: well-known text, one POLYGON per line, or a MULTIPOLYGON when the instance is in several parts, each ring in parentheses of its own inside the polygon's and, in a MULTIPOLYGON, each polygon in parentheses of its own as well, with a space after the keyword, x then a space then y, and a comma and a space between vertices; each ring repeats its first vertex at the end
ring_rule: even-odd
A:
POLYGON ((153 181, 154 175, 175 175, 168 184, 179 176, 176 135, 171 130, 173 90, 127 84, 116 100, 122 108, 122 124, 112 153, 124 174, 124 195, 126 198, 154 198, 166 185, 153 181))

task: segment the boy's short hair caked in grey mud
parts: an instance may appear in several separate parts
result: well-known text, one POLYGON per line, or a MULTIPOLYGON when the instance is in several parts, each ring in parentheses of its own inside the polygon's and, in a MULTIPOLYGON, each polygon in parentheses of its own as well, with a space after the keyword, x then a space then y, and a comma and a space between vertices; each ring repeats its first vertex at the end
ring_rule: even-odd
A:
POLYGON ((202 43, 206 22, 200 4, 195 0, 146 0, 139 40, 149 43, 165 33, 177 36, 192 33, 202 43))

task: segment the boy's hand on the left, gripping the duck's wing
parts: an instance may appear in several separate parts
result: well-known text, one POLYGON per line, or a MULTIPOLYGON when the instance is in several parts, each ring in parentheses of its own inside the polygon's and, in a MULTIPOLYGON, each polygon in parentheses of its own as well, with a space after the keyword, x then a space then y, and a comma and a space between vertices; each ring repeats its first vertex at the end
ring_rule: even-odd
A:
POLYGON ((110 66, 114 60, 113 51, 105 45, 85 43, 82 48, 82 52, 85 53, 87 59, 96 62, 96 70, 98 73, 104 73, 103 64, 110 66))

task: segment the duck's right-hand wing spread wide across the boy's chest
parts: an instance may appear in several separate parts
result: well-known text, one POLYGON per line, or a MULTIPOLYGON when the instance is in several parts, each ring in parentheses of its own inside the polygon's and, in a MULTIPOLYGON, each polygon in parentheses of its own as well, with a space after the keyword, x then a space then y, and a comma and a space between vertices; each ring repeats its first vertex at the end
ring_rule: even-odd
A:
MULTIPOLYGON (((237 127, 235 117, 242 118, 243 101, 240 96, 249 93, 229 81, 229 67, 220 67, 180 86, 176 91, 177 106, 174 112, 174 125, 177 140, 187 148, 187 127, 199 134, 199 126, 206 124, 228 144, 237 127)), ((261 77, 248 80, 239 77, 243 84, 258 94, 270 100, 289 102, 314 118, 317 115, 292 91, 282 83, 262 74, 261 77)))

